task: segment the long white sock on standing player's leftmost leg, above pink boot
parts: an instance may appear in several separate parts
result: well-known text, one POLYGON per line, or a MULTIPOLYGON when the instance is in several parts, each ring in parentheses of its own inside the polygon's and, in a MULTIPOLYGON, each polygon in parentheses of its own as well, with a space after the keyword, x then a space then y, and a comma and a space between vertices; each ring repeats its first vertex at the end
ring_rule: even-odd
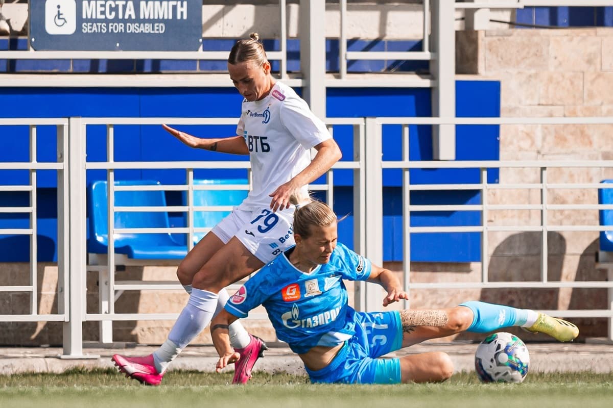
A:
POLYGON ((153 353, 158 373, 163 373, 177 355, 211 322, 217 306, 217 294, 193 288, 188 304, 170 330, 168 339, 153 353), (162 370, 162 371, 160 371, 162 370))

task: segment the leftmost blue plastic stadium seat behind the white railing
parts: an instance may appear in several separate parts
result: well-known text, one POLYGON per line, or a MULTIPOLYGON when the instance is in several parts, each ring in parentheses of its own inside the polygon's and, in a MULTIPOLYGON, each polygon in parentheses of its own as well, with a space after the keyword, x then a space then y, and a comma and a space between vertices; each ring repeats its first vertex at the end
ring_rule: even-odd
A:
MULTIPOLYGON (((154 180, 116 181, 115 185, 156 185, 154 180)), ((108 251, 108 189, 105 180, 93 182, 88 190, 89 239, 88 253, 108 251)), ((115 206, 166 206, 164 191, 115 191, 115 206)), ((162 212, 115 212, 115 228, 169 228, 169 217, 162 212)), ((182 259, 186 245, 172 239, 169 233, 115 234, 115 253, 131 259, 182 259)))

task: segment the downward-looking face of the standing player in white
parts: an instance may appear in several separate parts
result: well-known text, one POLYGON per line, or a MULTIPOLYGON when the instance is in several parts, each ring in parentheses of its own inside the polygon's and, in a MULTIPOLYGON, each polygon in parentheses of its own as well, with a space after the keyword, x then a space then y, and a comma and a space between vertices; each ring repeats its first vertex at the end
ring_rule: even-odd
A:
POLYGON ((268 61, 262 65, 254 61, 228 64, 228 72, 238 92, 249 102, 261 100, 272 88, 272 78, 269 75, 270 62, 268 61))

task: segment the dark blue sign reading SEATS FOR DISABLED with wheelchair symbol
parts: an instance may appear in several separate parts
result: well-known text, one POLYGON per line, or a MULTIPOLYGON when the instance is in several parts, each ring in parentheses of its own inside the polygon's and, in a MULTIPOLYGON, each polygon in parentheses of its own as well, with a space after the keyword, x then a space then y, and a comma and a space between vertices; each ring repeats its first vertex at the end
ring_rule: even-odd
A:
POLYGON ((193 0, 30 1, 34 50, 195 51, 202 2, 193 0))

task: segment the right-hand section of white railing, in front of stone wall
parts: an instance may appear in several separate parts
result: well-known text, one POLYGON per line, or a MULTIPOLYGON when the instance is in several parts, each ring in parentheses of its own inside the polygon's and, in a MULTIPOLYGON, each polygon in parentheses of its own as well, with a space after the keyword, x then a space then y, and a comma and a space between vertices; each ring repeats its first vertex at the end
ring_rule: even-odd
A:
MULTIPOLYGON (((548 278, 547 268, 547 232, 548 231, 607 231, 611 226, 590 225, 565 225, 549 224, 547 212, 553 210, 611 210, 611 204, 597 204, 594 202, 574 204, 552 204, 547 200, 548 192, 555 189, 590 189, 602 188, 600 179, 593 179, 585 183, 557 182, 547 180, 548 171, 562 168, 613 168, 613 160, 493 160, 493 161, 409 161, 409 125, 511 125, 511 124, 550 124, 550 125, 610 125, 613 117, 538 117, 538 118, 408 118, 408 117, 378 117, 367 118, 367 191, 366 199, 367 231, 366 254, 375 263, 383 262, 383 193, 381 190, 381 174, 383 169, 403 170, 403 275, 405 288, 410 289, 490 289, 490 288, 601 288, 608 289, 609 297, 606 310, 545 310, 561 317, 606 317, 609 320, 609 338, 613 339, 613 264, 596 265, 609 270, 607 280, 602 281, 551 281, 548 278), (382 126, 386 124, 402 125, 402 157, 400 161, 383 160, 382 154, 382 126), (410 169, 417 168, 478 168, 481 179, 477 184, 436 184, 414 185, 410 180, 410 169), (491 168, 535 168, 539 171, 537 183, 489 183, 487 182, 487 169, 491 168), (488 191, 496 189, 531 189, 540 191, 541 202, 539 204, 490 204, 488 191), (461 206, 415 206, 409 199, 411 191, 417 190, 480 190, 482 202, 479 205, 461 206), (413 211, 480 211, 480 226, 435 226, 435 227, 412 227, 409 223, 409 215, 413 211), (497 210, 537 210, 541 215, 541 223, 535 225, 490 225, 488 213, 497 210), (532 231, 541 233, 541 262, 540 280, 538 281, 490 281, 489 280, 489 240, 488 233, 496 231, 519 232, 532 231), (478 282, 441 282, 441 283, 413 283, 411 282, 411 256, 410 238, 412 233, 423 232, 480 232, 481 233, 481 280, 478 282)), ((593 178, 593 177, 592 177, 593 178)), ((595 236, 596 238, 596 236, 595 236)), ((368 290, 368 289, 367 289, 368 290)), ((367 309, 375 308, 380 303, 379 291, 367 293, 367 309)))

